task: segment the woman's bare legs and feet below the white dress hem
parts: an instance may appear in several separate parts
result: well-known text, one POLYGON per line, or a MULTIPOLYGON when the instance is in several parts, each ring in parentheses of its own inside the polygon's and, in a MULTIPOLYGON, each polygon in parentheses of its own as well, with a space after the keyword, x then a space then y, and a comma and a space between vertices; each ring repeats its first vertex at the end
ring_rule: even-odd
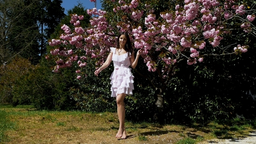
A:
POLYGON ((119 130, 115 137, 119 138, 126 138, 126 131, 125 131, 125 99, 126 94, 122 93, 116 97, 116 104, 117 104, 117 114, 119 119, 119 130))

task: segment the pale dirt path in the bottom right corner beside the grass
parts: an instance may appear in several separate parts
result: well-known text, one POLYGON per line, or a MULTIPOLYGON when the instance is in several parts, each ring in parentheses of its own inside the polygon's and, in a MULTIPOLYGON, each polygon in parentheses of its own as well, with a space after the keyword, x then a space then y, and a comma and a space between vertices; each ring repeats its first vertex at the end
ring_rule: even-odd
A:
POLYGON ((213 139, 204 144, 256 144, 256 131, 251 131, 244 138, 213 139))

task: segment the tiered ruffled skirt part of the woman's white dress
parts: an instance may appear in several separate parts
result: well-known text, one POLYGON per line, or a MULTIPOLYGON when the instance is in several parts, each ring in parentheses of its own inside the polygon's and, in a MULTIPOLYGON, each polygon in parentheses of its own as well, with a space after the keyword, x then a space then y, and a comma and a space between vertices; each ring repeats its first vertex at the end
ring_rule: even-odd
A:
POLYGON ((133 78, 134 76, 131 74, 131 68, 126 66, 116 67, 110 76, 112 85, 111 97, 116 97, 118 94, 122 93, 132 95, 132 90, 134 90, 133 78))

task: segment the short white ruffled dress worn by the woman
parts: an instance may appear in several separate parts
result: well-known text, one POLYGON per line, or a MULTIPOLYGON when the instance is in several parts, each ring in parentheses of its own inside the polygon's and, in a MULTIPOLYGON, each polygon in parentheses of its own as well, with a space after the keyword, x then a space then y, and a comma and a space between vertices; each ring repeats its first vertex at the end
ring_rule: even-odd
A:
POLYGON ((134 90, 134 76, 131 74, 131 68, 129 68, 131 65, 131 53, 129 56, 128 53, 116 55, 116 48, 111 47, 110 49, 113 52, 112 61, 114 63, 114 71, 110 76, 112 85, 111 96, 116 97, 118 94, 122 93, 125 93, 126 95, 132 95, 132 90, 134 90))

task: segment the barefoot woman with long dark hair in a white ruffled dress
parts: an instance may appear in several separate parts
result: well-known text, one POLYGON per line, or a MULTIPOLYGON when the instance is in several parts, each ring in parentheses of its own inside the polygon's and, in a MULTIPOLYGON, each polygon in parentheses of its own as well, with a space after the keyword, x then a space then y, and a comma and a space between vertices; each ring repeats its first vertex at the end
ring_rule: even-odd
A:
POLYGON ((126 139, 126 131, 125 131, 125 105, 124 99, 126 95, 132 95, 133 87, 133 78, 134 76, 131 74, 131 68, 135 69, 138 64, 139 56, 141 55, 141 49, 138 50, 136 59, 134 57, 134 51, 131 46, 131 41, 128 36, 128 33, 122 32, 119 34, 117 39, 117 48, 111 47, 111 52, 108 55, 107 60, 104 64, 97 69, 94 74, 98 76, 98 74, 108 67, 110 62, 113 60, 114 62, 114 72, 110 77, 111 79, 111 91, 112 97, 116 98, 117 103, 117 113, 119 118, 119 130, 115 137, 122 139, 126 139))

